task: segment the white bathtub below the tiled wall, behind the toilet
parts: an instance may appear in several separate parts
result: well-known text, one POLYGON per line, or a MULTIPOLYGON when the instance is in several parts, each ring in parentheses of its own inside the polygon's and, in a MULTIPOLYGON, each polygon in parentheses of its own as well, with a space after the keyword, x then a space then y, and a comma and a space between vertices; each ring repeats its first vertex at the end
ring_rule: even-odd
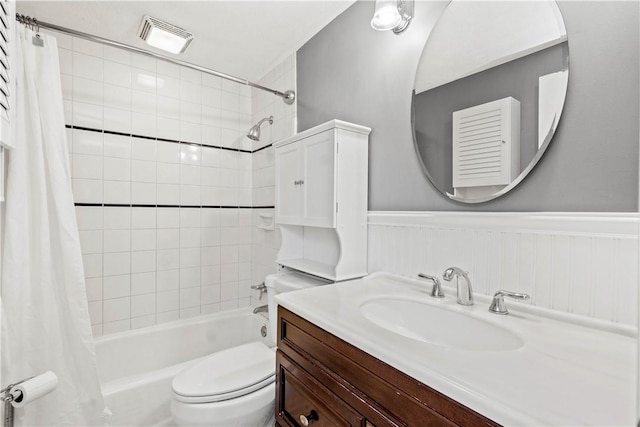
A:
POLYGON ((225 348, 265 341, 267 320, 249 308, 97 338, 98 376, 113 426, 168 426, 171 380, 225 348))

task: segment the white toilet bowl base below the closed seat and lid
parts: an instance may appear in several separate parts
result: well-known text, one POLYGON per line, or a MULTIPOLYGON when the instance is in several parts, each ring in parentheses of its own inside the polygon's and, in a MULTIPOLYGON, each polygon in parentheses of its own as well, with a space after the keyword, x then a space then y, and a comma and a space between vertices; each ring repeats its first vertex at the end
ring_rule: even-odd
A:
POLYGON ((245 396, 211 403, 171 400, 171 414, 177 426, 273 426, 275 382, 245 396))

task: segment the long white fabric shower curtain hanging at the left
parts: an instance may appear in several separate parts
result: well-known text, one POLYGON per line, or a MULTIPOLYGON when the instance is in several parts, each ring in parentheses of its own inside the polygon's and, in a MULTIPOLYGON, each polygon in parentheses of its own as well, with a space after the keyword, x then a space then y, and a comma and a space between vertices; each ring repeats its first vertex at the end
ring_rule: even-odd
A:
POLYGON ((16 409, 16 425, 101 425, 98 382, 71 193, 58 50, 19 27, 16 148, 7 167, 2 260, 2 380, 51 370, 56 390, 16 409))

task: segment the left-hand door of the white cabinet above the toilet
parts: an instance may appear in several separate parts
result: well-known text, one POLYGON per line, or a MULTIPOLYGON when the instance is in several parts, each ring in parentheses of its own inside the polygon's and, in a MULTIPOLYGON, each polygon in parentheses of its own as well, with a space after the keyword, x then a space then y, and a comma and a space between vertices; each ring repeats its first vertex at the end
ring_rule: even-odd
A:
POLYGON ((275 150, 276 222, 302 224, 300 149, 292 143, 275 150))

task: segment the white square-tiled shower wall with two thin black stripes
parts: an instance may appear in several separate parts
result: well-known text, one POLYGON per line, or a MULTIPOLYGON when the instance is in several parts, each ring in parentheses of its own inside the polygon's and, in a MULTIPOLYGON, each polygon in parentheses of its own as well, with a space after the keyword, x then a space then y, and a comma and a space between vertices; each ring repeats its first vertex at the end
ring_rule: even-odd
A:
MULTIPOLYGON (((273 190, 252 191, 256 172, 261 188, 273 187, 271 149, 253 154, 259 147, 244 137, 257 95, 55 36, 94 333, 248 306, 252 252, 266 265, 277 244, 274 231, 252 231, 253 207, 273 205, 273 190)), ((285 68, 291 75, 291 65, 272 73, 285 68)), ((270 114, 282 123, 290 108, 270 114)))

